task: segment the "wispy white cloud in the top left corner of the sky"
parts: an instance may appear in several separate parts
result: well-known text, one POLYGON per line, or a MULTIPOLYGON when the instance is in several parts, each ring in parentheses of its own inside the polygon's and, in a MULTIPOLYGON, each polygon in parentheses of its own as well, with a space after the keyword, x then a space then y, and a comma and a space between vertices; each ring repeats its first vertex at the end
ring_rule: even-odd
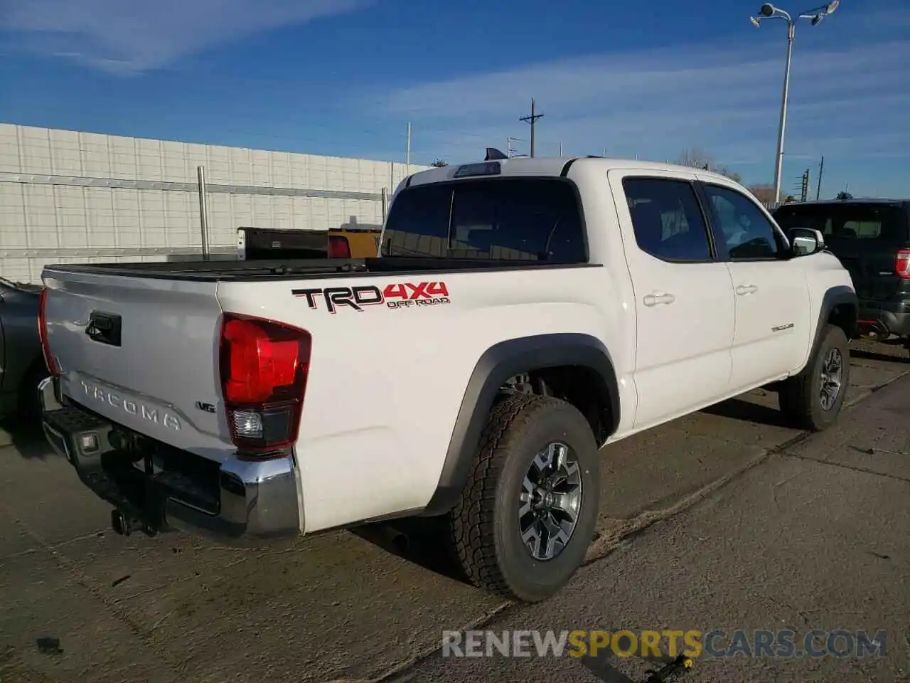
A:
POLYGON ((0 28, 26 49, 114 73, 169 66, 241 36, 304 24, 366 0, 20 0, 0 28))

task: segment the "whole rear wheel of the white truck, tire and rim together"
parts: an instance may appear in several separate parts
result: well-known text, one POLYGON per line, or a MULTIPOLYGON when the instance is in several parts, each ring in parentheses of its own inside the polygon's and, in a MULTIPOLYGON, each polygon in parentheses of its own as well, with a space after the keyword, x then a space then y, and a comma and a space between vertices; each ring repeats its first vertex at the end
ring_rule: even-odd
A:
POLYGON ((509 396, 490 413, 451 541, 475 586, 537 602, 568 583, 594 535, 599 454, 570 403, 509 396))

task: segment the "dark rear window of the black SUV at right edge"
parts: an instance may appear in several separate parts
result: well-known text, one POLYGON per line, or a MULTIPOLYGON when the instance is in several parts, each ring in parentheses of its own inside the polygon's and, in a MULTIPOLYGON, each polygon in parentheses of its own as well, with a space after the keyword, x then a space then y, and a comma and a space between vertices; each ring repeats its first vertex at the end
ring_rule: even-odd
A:
POLYGON ((783 206, 774 219, 784 230, 821 230, 826 240, 904 245, 910 241, 907 214, 893 204, 814 204, 783 206))

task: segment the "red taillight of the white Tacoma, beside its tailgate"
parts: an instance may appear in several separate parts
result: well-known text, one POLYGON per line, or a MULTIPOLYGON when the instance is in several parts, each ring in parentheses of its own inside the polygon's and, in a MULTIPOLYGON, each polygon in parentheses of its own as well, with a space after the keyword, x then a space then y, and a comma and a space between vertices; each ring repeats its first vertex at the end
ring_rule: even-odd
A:
POLYGON ((310 346, 306 330, 225 313, 221 391, 238 449, 263 454, 297 441, 310 346))

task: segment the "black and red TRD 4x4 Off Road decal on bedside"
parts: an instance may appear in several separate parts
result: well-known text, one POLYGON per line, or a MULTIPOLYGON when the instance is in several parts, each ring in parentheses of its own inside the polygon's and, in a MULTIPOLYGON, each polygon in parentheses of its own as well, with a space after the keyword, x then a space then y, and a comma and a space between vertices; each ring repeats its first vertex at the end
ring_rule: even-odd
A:
POLYGON ((304 297, 310 310, 319 309, 319 299, 325 301, 326 310, 335 313, 344 306, 363 311, 367 306, 385 304, 390 309, 436 306, 450 303, 449 288, 445 282, 399 282, 380 290, 375 285, 359 287, 325 287, 310 290, 291 290, 296 297, 304 297))

